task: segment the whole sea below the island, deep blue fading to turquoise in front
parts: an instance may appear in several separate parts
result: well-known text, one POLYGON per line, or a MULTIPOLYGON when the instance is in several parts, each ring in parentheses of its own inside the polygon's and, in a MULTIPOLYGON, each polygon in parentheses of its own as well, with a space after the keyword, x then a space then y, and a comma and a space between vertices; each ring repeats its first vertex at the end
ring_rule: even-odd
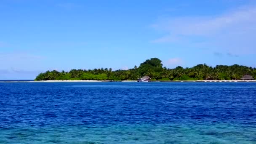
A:
POLYGON ((0 144, 256 144, 256 83, 0 83, 0 144))

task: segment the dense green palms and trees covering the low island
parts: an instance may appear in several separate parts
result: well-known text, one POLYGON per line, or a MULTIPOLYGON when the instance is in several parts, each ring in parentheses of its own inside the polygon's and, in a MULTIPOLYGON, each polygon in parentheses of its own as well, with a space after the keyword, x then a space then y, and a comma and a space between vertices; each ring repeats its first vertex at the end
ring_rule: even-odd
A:
POLYGON ((195 67, 167 69, 161 60, 152 58, 144 61, 133 69, 115 70, 101 69, 72 69, 69 72, 56 70, 40 73, 35 80, 137 80, 148 75, 152 80, 239 80, 243 75, 252 75, 256 78, 256 68, 240 66, 217 65, 209 67, 198 64, 195 67))

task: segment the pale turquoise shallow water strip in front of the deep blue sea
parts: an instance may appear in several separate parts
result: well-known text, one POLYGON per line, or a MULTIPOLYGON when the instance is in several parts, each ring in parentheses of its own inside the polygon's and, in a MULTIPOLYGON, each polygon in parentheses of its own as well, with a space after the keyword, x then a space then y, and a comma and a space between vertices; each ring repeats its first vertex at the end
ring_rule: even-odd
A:
POLYGON ((66 125, 6 128, 1 143, 17 144, 255 144, 255 125, 66 125))

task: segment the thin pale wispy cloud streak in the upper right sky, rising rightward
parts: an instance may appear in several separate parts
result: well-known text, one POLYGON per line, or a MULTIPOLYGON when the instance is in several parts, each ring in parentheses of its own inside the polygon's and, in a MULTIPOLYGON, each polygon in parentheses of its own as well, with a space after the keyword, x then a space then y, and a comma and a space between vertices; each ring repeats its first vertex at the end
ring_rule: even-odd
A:
POLYGON ((246 7, 220 16, 167 18, 153 27, 179 35, 209 36, 225 29, 256 30, 256 26, 251 25, 256 22, 256 19, 253 19, 255 16, 256 7, 246 7), (244 25, 249 27, 243 27, 244 25))

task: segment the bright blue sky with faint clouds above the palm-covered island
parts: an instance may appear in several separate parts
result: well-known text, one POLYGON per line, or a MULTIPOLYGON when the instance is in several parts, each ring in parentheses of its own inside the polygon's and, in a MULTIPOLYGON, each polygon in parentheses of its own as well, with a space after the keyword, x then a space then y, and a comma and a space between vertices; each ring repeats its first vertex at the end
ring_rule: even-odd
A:
POLYGON ((0 80, 56 69, 256 67, 255 0, 0 0, 0 80))

